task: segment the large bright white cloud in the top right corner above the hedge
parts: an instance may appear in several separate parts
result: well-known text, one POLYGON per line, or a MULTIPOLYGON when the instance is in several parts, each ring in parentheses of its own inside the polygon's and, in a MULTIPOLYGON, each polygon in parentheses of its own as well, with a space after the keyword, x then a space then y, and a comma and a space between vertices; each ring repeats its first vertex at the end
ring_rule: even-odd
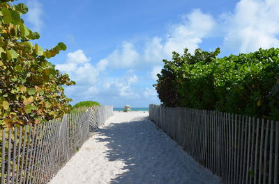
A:
POLYGON ((224 45, 248 53, 260 47, 279 47, 279 3, 276 0, 241 0, 234 14, 223 15, 224 45))

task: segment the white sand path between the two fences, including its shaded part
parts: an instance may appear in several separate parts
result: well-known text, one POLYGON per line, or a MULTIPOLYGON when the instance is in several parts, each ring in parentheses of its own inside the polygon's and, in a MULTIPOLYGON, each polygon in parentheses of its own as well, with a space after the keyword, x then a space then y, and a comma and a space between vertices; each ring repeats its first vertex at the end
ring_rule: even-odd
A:
POLYGON ((144 112, 114 112, 49 184, 220 183, 144 112))

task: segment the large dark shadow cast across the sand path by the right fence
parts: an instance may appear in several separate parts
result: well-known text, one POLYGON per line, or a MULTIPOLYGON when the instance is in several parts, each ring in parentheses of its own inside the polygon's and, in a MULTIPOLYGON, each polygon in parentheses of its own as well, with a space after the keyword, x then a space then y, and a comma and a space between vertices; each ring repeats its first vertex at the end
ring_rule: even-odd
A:
MULTIPOLYGON (((204 169, 186 156, 182 148, 147 117, 110 126, 100 129, 100 135, 106 138, 98 138, 97 141, 107 142, 110 161, 121 160, 126 165, 123 174, 112 179, 112 184, 210 183, 214 178, 210 172, 204 174, 204 169)), ((218 183, 216 179, 213 181, 218 183)))

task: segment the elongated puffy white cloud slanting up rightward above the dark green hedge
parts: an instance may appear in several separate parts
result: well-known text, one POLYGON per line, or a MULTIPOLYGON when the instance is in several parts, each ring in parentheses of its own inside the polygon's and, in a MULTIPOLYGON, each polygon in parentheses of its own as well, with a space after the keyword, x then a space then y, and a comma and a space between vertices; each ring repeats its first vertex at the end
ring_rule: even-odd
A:
POLYGON ((152 37, 138 51, 132 42, 123 42, 105 60, 114 68, 135 68, 145 64, 158 65, 163 58, 171 58, 172 52, 183 53, 184 48, 193 52, 202 39, 208 36, 216 22, 211 15, 193 10, 182 17, 180 24, 169 26, 164 37, 152 37))

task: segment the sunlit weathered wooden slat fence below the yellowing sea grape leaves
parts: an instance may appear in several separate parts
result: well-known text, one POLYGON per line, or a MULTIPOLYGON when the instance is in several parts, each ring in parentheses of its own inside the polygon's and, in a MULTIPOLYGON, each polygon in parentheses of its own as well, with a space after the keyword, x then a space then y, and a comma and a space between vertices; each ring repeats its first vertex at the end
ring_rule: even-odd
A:
POLYGON ((45 124, 1 131, 1 184, 47 183, 98 128, 112 106, 94 106, 45 124))

